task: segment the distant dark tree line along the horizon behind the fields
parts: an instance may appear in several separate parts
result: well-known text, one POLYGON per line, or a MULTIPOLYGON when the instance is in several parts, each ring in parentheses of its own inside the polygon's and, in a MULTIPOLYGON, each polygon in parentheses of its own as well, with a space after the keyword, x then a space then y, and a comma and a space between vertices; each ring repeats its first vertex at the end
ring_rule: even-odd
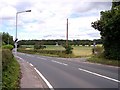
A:
MULTIPOLYGON (((68 40, 69 45, 93 45, 93 42, 96 44, 102 44, 101 39, 95 39, 95 40, 68 40)), ((65 45, 66 40, 20 40, 18 41, 18 45, 65 45)))

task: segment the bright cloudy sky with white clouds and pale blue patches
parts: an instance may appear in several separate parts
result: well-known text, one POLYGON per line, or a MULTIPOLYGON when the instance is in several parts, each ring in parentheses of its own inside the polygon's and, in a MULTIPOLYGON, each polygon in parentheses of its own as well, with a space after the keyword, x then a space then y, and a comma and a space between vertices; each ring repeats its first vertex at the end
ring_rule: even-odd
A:
POLYGON ((111 8, 110 0, 0 0, 0 32, 15 39, 16 12, 18 39, 65 39, 66 20, 69 39, 99 39, 99 31, 91 22, 100 18, 100 11, 111 8))

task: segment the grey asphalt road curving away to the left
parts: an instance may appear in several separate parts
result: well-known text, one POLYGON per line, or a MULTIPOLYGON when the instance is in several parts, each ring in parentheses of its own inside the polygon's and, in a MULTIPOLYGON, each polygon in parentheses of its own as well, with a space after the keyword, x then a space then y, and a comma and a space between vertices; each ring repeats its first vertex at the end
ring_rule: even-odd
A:
MULTIPOLYGON (((118 67, 76 62, 70 58, 56 58, 17 53, 31 63, 53 88, 118 88, 118 67)), ((115 90, 115 89, 114 89, 115 90)))

